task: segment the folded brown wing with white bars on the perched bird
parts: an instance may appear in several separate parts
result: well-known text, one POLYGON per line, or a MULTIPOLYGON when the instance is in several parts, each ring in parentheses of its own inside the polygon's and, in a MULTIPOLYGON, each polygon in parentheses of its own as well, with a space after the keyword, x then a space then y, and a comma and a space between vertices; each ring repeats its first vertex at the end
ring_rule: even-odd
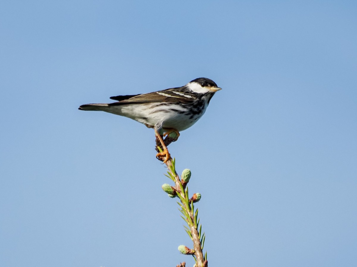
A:
POLYGON ((196 96, 192 93, 188 93, 186 90, 183 90, 183 87, 177 87, 140 95, 112 96, 111 99, 118 100, 119 102, 115 102, 110 105, 155 102, 191 103, 196 99, 196 96))

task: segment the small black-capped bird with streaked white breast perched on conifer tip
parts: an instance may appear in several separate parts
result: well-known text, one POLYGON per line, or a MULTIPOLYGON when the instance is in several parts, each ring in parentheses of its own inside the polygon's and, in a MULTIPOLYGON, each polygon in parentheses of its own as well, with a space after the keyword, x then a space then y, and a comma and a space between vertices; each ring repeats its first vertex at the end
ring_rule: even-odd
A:
POLYGON ((163 151, 156 157, 170 158, 163 136, 172 132, 180 136, 180 131, 195 124, 205 113, 212 96, 222 88, 213 80, 197 78, 182 87, 169 88, 146 94, 118 95, 109 104, 85 104, 79 110, 105 111, 136 120, 149 128, 154 128, 163 151))

